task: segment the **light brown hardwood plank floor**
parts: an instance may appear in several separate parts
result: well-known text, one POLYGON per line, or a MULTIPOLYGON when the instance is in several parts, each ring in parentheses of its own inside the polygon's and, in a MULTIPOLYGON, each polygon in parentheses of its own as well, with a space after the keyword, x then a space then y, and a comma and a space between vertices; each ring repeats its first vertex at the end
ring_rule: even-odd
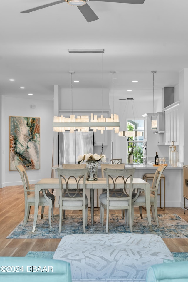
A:
MULTIPOLYGON (((24 219, 23 186, 9 186, 0 189, 0 199, 0 256, 26 256, 28 251, 56 250, 61 239, 6 239, 24 219)), ((45 214, 47 214, 48 208, 45 209, 45 214)), ((159 208, 158 211, 160 214, 178 214, 188 222, 188 211, 184 214, 181 208, 165 208, 165 211, 159 208)), ((31 207, 31 214, 33 213, 34 209, 31 207)), ((79 211, 70 211, 70 214, 72 213, 78 214, 79 211)), ((99 211, 95 210, 94 213, 99 214, 99 211)), ((139 213, 138 209, 136 213, 139 213)), ((58 208, 54 208, 54 214, 59 214, 58 208)), ((188 252, 188 238, 164 238, 163 240, 172 252, 188 252)))

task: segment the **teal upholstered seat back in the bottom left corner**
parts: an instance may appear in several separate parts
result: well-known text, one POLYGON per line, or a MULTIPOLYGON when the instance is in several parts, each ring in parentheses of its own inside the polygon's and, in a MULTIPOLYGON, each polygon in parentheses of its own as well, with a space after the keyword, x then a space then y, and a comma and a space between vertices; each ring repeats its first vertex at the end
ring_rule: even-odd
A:
POLYGON ((0 281, 72 282, 70 264, 53 259, 0 257, 0 281))

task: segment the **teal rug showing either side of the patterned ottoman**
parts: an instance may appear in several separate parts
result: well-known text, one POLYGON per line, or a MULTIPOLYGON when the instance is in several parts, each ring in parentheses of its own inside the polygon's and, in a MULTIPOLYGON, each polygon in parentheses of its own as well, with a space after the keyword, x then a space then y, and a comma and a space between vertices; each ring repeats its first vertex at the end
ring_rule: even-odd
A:
MULTIPOLYGON (((55 252, 28 252, 26 256, 31 258, 52 259, 55 252)), ((188 253, 172 252, 175 261, 188 261, 188 253)))

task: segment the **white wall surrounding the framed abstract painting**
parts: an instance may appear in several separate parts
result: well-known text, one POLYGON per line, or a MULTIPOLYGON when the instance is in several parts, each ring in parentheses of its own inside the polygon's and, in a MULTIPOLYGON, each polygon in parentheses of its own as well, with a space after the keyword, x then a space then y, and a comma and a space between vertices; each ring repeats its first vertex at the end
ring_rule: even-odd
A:
POLYGON ((40 117, 40 169, 28 170, 30 183, 44 177, 51 177, 53 150, 53 101, 19 99, 2 96, 2 177, 0 187, 20 185, 21 178, 17 171, 9 171, 9 116, 40 117), (36 105, 36 108, 31 108, 36 105))

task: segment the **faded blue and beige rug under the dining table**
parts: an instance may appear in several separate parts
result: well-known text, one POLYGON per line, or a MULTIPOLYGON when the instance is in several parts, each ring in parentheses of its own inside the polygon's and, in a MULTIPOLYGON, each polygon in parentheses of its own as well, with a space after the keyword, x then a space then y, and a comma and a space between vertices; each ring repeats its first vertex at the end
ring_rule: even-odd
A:
MULTIPOLYGON (((135 214, 133 222, 133 233, 155 234, 161 238, 188 238, 188 223, 177 214, 159 214, 158 227, 152 221, 153 231, 150 232, 147 216, 143 214, 143 219, 140 214, 135 214)), ((32 232, 33 215, 29 217, 28 223, 23 227, 23 221, 11 232, 6 238, 63 238, 69 234, 82 234, 82 215, 66 215, 63 219, 62 231, 58 233, 59 216, 54 215, 55 221, 52 222, 52 227, 49 227, 48 216, 44 215, 43 219, 38 216, 35 232, 32 232)), ((105 224, 105 219, 104 219, 105 224)), ((94 225, 91 225, 90 215, 88 216, 88 226, 86 233, 105 233, 105 226, 100 224, 100 215, 94 216, 94 225)), ((130 233, 128 226, 125 226, 124 219, 120 214, 110 214, 109 233, 130 233)))

